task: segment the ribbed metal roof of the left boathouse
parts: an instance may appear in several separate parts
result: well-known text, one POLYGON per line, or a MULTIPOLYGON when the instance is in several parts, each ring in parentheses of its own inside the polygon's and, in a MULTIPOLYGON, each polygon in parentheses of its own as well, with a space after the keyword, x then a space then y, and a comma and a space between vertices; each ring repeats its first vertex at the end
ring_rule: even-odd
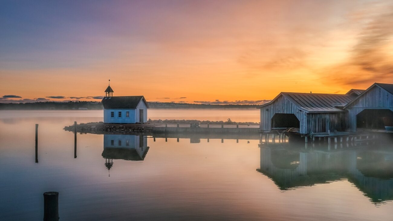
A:
POLYGON ((265 103, 258 108, 262 108, 274 103, 280 96, 284 96, 290 100, 299 109, 305 112, 342 112, 342 107, 347 105, 355 97, 348 94, 311 94, 311 93, 295 93, 281 92, 269 103, 265 103), (341 107, 341 108, 340 108, 341 107))

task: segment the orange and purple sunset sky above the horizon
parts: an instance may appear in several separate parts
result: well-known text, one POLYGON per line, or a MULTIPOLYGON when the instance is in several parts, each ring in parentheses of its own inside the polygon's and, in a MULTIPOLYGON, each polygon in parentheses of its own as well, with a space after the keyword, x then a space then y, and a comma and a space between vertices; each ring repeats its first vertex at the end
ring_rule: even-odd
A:
POLYGON ((393 2, 6 0, 0 76, 0 102, 344 94, 393 83, 393 2))

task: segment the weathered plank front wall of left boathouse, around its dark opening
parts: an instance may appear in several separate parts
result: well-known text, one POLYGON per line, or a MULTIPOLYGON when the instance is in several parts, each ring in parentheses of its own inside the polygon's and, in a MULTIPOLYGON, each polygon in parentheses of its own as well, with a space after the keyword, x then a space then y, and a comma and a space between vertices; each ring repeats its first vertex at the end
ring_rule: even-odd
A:
POLYGON ((261 130, 271 131, 272 130, 272 118, 274 114, 295 114, 300 122, 300 133, 306 134, 307 123, 306 123, 306 113, 300 110, 294 103, 285 98, 285 96, 280 96, 272 104, 264 106, 261 108, 261 130), (267 110, 267 111, 266 111, 267 110))

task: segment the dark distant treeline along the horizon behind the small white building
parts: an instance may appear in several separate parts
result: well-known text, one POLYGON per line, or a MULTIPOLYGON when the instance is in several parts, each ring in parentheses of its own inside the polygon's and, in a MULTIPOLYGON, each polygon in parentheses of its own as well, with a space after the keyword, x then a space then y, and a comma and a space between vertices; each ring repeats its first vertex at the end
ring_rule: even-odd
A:
MULTIPOLYGON (((259 105, 241 104, 194 104, 171 102, 147 102, 152 109, 211 109, 211 108, 256 108, 259 105)), ((102 110, 101 101, 68 101, 68 102, 34 102, 34 103, 0 103, 0 110, 102 110)))

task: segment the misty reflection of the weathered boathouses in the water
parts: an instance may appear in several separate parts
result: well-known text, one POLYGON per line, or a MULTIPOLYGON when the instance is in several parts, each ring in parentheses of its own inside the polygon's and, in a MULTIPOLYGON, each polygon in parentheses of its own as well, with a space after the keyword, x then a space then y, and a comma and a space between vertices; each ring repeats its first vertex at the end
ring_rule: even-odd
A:
POLYGON ((261 147, 261 168, 281 190, 348 179, 374 203, 393 200, 393 152, 261 147))

